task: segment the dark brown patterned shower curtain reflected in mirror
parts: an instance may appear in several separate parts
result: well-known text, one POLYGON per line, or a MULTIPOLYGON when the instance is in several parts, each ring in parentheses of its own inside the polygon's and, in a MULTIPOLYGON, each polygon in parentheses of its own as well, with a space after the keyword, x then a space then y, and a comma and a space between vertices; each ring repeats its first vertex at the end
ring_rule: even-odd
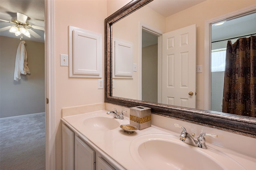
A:
POLYGON ((256 36, 228 41, 222 112, 256 117, 256 36))

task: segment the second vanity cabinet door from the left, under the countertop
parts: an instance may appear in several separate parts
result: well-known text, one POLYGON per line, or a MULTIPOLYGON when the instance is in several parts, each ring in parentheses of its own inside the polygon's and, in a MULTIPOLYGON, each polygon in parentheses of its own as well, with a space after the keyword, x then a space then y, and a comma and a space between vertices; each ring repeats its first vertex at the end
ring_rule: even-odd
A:
POLYGON ((95 151, 75 137, 75 170, 95 170, 95 151))

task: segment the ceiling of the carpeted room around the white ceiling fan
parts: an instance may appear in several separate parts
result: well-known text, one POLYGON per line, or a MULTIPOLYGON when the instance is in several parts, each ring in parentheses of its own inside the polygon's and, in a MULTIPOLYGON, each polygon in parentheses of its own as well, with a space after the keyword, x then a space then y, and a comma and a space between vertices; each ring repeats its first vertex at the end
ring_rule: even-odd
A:
MULTIPOLYGON (((37 25, 44 27, 44 0, 0 0, 0 19, 11 21, 12 18, 17 17, 17 12, 28 16, 30 25, 37 25)), ((12 23, 0 21, 0 28, 14 25, 12 23)), ((31 28, 32 29, 32 28, 31 28)), ((41 38, 35 38, 31 35, 30 38, 23 35, 24 40, 44 42, 44 31, 32 29, 38 33, 41 38)), ((1 31, 1 36, 20 38, 10 33, 9 30, 1 31)))

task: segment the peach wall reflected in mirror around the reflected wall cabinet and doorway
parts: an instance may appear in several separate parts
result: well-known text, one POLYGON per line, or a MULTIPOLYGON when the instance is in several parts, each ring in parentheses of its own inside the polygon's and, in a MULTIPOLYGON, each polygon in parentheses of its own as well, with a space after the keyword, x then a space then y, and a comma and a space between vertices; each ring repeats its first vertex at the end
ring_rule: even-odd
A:
POLYGON ((133 63, 137 64, 137 71, 133 72, 132 79, 115 78, 113 96, 141 100, 141 92, 139 90, 141 49, 139 49, 140 42, 138 41, 138 37, 141 37, 141 24, 164 32, 165 18, 151 8, 144 6, 113 25, 113 38, 133 44, 133 63))

